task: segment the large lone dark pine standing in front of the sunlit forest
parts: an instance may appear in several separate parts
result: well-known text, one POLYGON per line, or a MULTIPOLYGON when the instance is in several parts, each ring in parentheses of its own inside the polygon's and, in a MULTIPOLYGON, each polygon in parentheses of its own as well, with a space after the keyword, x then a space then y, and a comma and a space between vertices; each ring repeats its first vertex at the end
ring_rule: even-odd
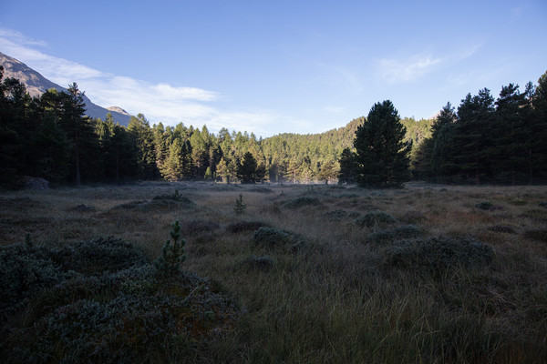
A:
POLYGON ((410 179, 406 129, 391 101, 377 103, 356 130, 357 183, 361 187, 402 187, 410 179))

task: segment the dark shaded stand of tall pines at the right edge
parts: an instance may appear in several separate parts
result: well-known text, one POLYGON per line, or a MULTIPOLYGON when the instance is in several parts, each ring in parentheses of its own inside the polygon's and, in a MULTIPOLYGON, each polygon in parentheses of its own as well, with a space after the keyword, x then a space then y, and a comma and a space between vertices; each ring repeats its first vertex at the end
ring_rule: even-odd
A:
POLYGON ((532 184, 547 180, 547 73, 538 85, 484 88, 444 106, 413 155, 414 177, 434 182, 532 184))

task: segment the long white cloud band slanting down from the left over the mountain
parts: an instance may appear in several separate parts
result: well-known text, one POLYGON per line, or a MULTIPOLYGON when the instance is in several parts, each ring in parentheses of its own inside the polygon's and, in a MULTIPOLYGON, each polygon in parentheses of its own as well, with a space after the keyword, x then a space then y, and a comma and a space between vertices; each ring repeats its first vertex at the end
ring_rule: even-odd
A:
POLYGON ((207 125, 210 130, 229 127, 235 130, 267 133, 284 118, 274 110, 225 110, 218 105, 218 92, 191 86, 153 84, 129 76, 117 76, 49 56, 40 49, 44 42, 18 32, 0 28, 0 51, 26 63, 60 86, 77 82, 80 90, 100 106, 120 106, 130 114, 143 113, 152 123, 207 125))

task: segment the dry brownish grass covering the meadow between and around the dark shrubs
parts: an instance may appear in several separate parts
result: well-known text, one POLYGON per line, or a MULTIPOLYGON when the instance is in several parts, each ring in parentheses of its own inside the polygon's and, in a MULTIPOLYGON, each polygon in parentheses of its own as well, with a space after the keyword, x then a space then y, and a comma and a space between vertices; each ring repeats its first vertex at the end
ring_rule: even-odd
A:
POLYGON ((547 200, 546 187, 409 184, 377 191, 145 183, 9 192, 0 198, 5 245, 20 242, 27 232, 36 243, 55 246, 114 235, 153 259, 170 224, 179 219, 188 241, 184 268, 212 278, 243 314, 232 331, 190 357, 166 349, 162 358, 172 362, 540 363, 547 358, 547 241, 527 233, 547 228, 547 208, 539 206, 547 200), (196 206, 114 208, 175 189, 196 206), (236 215, 240 193, 247 208, 236 215), (298 197, 319 203, 286 205, 298 197), (476 207, 480 202, 493 207, 482 210, 476 207), (93 209, 73 208, 80 204, 93 209), (335 210, 344 217, 328 215, 335 210), (435 273, 390 266, 390 243, 367 240, 383 227, 354 223, 374 210, 394 217, 397 226, 417 225, 425 237, 479 239, 490 245, 494 258, 489 265, 435 273), (298 249, 255 245, 253 231, 226 230, 241 220, 293 232, 308 244, 298 249), (253 255, 274 258, 274 267, 234 268, 253 255))

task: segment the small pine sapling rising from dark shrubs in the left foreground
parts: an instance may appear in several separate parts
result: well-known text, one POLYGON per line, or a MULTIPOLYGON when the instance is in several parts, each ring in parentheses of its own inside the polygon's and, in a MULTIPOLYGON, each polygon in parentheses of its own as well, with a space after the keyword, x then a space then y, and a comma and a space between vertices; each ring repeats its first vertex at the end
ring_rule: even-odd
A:
POLYGON ((181 273, 181 264, 186 259, 184 254, 186 240, 181 238, 179 220, 176 220, 171 227, 170 239, 163 244, 161 255, 154 261, 154 267, 165 276, 181 273))

